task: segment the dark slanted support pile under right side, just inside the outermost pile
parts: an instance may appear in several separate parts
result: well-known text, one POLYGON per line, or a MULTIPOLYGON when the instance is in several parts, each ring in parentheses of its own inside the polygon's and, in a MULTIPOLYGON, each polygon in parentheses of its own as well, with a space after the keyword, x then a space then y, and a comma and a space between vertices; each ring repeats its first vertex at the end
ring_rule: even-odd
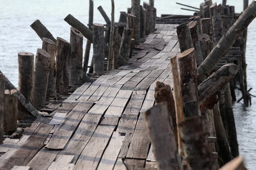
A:
POLYGON ((216 137, 218 139, 218 148, 219 148, 218 155, 220 156, 220 159, 223 161, 223 164, 226 164, 227 162, 233 159, 233 156, 230 153, 230 148, 227 142, 227 136, 221 120, 221 115, 219 112, 218 105, 214 105, 212 110, 213 110, 214 124, 215 124, 215 130, 216 130, 216 137))

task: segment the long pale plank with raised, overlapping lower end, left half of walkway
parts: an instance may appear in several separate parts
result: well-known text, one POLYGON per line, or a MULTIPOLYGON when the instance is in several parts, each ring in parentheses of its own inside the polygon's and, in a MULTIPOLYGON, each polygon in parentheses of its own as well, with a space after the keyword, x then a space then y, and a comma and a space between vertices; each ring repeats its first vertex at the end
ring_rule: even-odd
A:
POLYGON ((81 119, 83 119, 84 115, 92 105, 92 101, 79 102, 79 104, 76 105, 76 107, 61 122, 61 125, 55 130, 52 138, 45 147, 52 150, 62 150, 73 135, 79 122, 81 122, 81 119))

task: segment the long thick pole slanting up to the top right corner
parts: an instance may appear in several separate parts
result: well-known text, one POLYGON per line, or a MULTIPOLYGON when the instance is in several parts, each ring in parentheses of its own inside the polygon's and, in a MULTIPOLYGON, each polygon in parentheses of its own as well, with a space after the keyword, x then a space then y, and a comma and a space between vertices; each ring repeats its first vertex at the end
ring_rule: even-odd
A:
POLYGON ((236 23, 221 38, 215 48, 207 56, 204 62, 198 67, 200 79, 209 76, 213 68, 221 61, 230 47, 236 42, 241 33, 249 26, 256 17, 256 1, 253 1, 240 15, 236 23))

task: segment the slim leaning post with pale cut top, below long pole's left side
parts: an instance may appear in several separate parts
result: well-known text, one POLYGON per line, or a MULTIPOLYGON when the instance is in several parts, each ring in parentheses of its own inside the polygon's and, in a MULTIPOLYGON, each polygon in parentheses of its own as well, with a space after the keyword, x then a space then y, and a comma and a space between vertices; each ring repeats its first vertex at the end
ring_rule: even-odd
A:
POLYGON ((198 23, 197 21, 191 21, 189 24, 189 30, 195 48, 195 60, 197 67, 204 61, 203 54, 201 51, 201 43, 199 41, 198 23))

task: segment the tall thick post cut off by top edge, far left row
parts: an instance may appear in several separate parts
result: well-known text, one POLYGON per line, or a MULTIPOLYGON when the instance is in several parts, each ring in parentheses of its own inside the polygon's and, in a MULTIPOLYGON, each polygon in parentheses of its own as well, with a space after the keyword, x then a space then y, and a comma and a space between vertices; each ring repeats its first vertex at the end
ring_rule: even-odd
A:
POLYGON ((131 14, 136 16, 135 18, 135 43, 140 42, 140 0, 131 0, 131 14))

